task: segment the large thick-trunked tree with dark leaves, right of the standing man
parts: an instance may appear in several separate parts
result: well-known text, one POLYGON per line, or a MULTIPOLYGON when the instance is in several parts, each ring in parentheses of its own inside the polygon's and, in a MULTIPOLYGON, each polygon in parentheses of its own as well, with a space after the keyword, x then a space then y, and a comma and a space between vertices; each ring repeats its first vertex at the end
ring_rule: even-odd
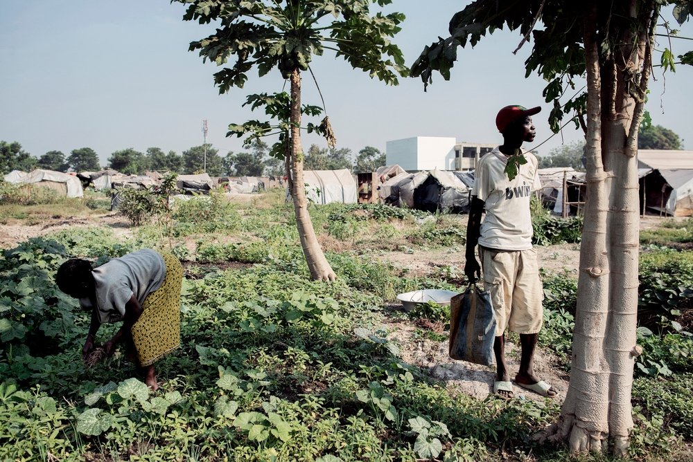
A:
MULTIPOLYGON (((587 203, 570 388, 559 420, 543 434, 568 440, 573 452, 602 450, 611 438, 614 452, 625 454, 633 427, 633 358, 640 351, 638 127, 660 8, 671 4, 683 24, 693 10, 690 0, 477 0, 450 20, 450 37, 427 46, 412 66, 425 86, 434 72, 448 80, 458 47, 474 46, 495 29, 518 30, 518 48, 532 42, 527 75, 536 72, 548 82, 543 97, 552 107, 552 130, 566 116, 584 130, 587 203), (573 94, 583 79, 586 91, 573 94)), ((668 31, 665 25, 661 33, 668 31)), ((665 49, 658 65, 674 70, 674 56, 665 49)), ((693 53, 678 60, 691 64, 693 53)))

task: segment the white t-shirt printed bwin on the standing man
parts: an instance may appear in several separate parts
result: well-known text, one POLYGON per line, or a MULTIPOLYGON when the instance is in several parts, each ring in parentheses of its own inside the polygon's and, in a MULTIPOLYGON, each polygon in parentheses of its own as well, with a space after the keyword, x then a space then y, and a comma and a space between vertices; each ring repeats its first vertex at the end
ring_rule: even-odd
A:
POLYGON ((527 163, 520 165, 513 181, 505 174, 507 156, 498 147, 479 160, 472 196, 486 203, 480 246, 496 250, 532 248, 529 199, 534 191, 541 189, 541 183, 536 172, 536 157, 531 152, 523 154, 527 163))

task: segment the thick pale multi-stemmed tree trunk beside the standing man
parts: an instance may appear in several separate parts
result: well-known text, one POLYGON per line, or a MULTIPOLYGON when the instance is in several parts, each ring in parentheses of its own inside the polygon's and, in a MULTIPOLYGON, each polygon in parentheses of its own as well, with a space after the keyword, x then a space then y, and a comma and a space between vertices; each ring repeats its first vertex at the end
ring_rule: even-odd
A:
MULTIPOLYGON (((623 17, 636 17, 635 0, 623 3, 623 17)), ((638 18, 644 32, 615 29, 626 45, 601 60, 596 3, 585 16, 587 201, 570 387, 559 421, 539 437, 569 438, 572 452, 604 450, 611 438, 615 454, 625 456, 633 427, 631 387, 639 352, 637 135, 649 80, 650 24, 658 13, 653 6, 647 10, 640 11, 646 21, 638 18)))

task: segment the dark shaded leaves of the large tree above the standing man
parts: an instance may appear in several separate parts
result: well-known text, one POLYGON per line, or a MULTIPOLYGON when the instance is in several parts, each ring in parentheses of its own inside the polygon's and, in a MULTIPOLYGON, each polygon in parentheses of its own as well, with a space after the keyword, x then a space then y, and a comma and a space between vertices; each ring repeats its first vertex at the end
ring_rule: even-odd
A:
MULTIPOLYGON (((636 2, 641 3, 641 2, 636 2)), ((693 12, 690 1, 656 1, 658 4, 676 4, 674 18, 683 24, 693 12)), ((611 15, 611 2, 605 2, 597 8, 596 24, 608 24, 602 19, 611 15)), ((576 128, 581 126, 581 118, 586 113, 587 93, 584 87, 577 85, 577 79, 586 73, 584 56, 584 37, 582 23, 578 18, 584 15, 585 5, 582 2, 561 0, 498 1, 477 0, 464 10, 457 12, 450 19, 448 31, 450 37, 439 37, 423 52, 412 65, 412 76, 421 77, 424 89, 432 83, 433 74, 439 73, 445 80, 450 80, 450 69, 457 61, 457 48, 468 44, 475 46, 482 37, 495 30, 508 28, 517 30, 522 37, 532 39, 532 52, 525 61, 525 76, 537 73, 548 83, 543 91, 545 102, 552 105, 549 124, 554 131, 561 129, 561 121, 566 114, 576 128), (536 23, 541 21, 541 27, 536 23), (567 101, 561 102, 561 100, 567 101)), ((644 11, 644 9, 643 9, 644 11)), ((597 30, 599 55, 602 59, 611 57, 617 43, 615 35, 597 30)), ((524 43, 524 39, 523 42, 524 43)), ((693 52, 678 55, 681 64, 693 64, 693 52)), ((674 70, 674 51, 665 48, 663 65, 674 70)), ((642 99, 640 94, 640 75, 631 76, 631 91, 642 99)))

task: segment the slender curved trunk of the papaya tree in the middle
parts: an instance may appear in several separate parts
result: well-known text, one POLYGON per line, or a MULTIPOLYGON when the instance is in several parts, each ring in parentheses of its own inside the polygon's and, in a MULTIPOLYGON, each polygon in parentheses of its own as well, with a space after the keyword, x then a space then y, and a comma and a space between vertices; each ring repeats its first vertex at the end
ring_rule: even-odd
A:
POLYGON ((308 200, 304 181, 304 154, 301 147, 301 74, 298 69, 291 73, 291 178, 290 191, 294 201, 296 224, 301 238, 301 248, 306 257, 310 277, 315 280, 334 281, 337 277, 315 236, 313 221, 308 214, 308 200))

